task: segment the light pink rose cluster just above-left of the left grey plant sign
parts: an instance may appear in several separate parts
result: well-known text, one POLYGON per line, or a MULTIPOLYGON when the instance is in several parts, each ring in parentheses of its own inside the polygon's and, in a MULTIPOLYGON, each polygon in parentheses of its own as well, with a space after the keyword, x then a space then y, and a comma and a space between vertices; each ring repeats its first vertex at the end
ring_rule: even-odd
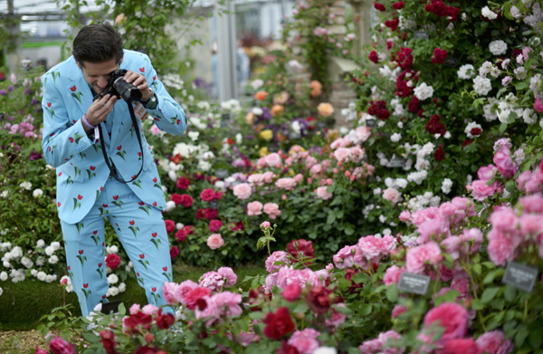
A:
POLYGON ((352 267, 353 264, 367 269, 371 263, 378 263, 381 257, 389 255, 396 248, 396 239, 390 234, 383 238, 373 235, 360 237, 356 245, 348 245, 334 255, 333 261, 338 269, 352 267))

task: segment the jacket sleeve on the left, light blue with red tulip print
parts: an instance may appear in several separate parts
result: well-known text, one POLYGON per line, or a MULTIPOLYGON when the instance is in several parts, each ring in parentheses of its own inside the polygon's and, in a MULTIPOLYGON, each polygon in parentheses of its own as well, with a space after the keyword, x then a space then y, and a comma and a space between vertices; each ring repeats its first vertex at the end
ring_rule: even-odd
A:
POLYGON ((90 148, 92 142, 83 128, 81 117, 75 120, 68 116, 62 95, 49 73, 42 76, 42 85, 43 158, 52 167, 59 167, 90 148))

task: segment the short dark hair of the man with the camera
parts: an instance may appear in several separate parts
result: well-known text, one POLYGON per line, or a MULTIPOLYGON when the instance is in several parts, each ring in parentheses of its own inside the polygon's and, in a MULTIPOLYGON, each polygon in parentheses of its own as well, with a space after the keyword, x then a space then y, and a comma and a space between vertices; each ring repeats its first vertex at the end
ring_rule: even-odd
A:
POLYGON ((108 62, 122 58, 122 38, 108 23, 89 24, 81 28, 73 40, 73 57, 84 67, 84 62, 108 62))

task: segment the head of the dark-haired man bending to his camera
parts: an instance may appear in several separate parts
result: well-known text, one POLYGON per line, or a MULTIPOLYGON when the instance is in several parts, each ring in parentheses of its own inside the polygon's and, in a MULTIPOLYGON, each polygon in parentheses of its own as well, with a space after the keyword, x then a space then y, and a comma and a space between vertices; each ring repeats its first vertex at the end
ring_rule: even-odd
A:
POLYGON ((110 72, 119 69, 122 62, 122 39, 110 24, 90 24, 73 40, 72 53, 90 87, 102 93, 110 72))

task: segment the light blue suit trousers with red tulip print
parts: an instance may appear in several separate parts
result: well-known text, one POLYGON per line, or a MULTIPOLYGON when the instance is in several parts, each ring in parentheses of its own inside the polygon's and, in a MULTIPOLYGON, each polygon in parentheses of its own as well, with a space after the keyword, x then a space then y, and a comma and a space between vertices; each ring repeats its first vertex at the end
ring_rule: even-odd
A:
MULTIPOLYGON (((97 304, 108 302, 106 217, 134 265, 138 284, 145 290, 148 303, 167 305, 162 287, 164 282, 173 280, 162 212, 143 203, 126 184, 109 177, 96 203, 81 222, 67 224, 61 221, 68 273, 82 315, 89 316, 97 304)), ((172 312, 170 307, 164 311, 172 312)))

